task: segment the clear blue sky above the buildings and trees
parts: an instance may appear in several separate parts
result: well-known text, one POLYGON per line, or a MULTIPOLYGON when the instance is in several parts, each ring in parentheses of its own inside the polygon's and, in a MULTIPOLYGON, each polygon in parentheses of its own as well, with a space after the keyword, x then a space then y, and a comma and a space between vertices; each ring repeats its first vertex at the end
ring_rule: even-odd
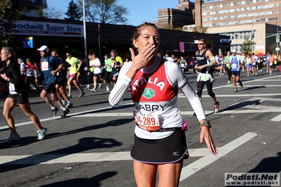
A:
MULTIPOLYGON (((64 13, 71 0, 46 0, 47 5, 64 13)), ((76 0, 74 0, 77 3, 76 0)), ((157 11, 162 8, 177 8, 178 0, 117 0, 119 6, 129 11, 126 25, 141 25, 143 22, 157 21, 157 11)), ((64 17, 63 17, 64 18, 64 17)))

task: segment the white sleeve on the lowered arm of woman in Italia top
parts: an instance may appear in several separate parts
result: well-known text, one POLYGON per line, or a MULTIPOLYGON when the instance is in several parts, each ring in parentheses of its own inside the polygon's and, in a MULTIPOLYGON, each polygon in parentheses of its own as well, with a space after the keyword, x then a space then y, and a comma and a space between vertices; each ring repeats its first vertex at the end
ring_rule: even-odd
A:
POLYGON ((192 105, 192 109, 196 113, 197 119, 199 121, 206 119, 203 105, 199 97, 197 96, 197 93, 189 84, 189 81, 185 73, 182 72, 182 70, 177 65, 173 65, 173 64, 169 64, 168 66, 166 66, 166 71, 170 82, 172 82, 175 86, 177 86, 178 89, 180 89, 180 91, 182 91, 182 93, 188 99, 190 105, 192 105))

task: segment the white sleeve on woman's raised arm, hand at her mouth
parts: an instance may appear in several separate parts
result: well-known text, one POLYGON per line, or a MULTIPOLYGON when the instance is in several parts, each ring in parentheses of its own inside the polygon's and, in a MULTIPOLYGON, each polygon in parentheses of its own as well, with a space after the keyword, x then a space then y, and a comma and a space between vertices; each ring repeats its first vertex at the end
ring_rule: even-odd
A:
POLYGON ((127 90, 130 87, 132 79, 127 77, 126 72, 129 70, 132 63, 124 63, 118 75, 118 81, 116 82, 113 90, 108 96, 108 102, 113 105, 119 105, 125 97, 127 90))

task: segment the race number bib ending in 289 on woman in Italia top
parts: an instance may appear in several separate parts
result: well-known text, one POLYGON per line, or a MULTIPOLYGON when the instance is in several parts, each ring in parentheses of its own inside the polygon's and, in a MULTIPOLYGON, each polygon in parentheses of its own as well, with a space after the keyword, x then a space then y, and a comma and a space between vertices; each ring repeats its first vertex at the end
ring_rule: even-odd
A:
POLYGON ((157 113, 142 114, 141 112, 134 112, 134 116, 139 127, 146 131, 157 131, 161 129, 157 113))

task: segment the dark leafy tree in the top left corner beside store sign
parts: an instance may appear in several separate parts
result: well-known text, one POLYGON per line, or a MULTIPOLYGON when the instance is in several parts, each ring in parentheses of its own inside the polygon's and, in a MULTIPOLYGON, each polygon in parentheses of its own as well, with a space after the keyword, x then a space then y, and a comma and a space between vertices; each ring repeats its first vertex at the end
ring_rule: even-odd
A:
POLYGON ((14 37, 5 34, 11 30, 16 20, 19 20, 23 12, 13 8, 11 0, 0 1, 0 46, 13 46, 14 37))

